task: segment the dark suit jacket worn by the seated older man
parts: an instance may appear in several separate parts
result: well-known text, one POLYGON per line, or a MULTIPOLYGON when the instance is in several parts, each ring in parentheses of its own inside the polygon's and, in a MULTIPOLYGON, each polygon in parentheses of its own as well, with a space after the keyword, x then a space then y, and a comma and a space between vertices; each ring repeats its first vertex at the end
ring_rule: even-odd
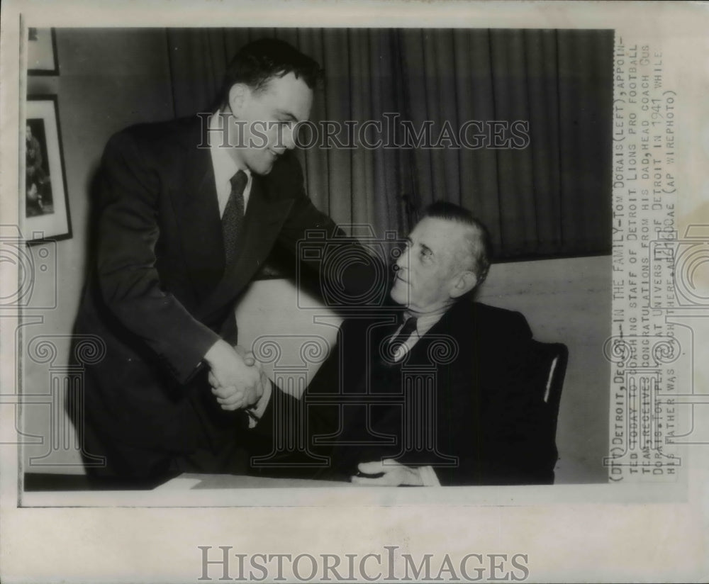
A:
POLYGON ((255 431, 260 471, 344 479, 359 462, 395 458, 432 464, 442 485, 553 482, 552 412, 534 391, 523 315, 460 301, 396 364, 379 356, 385 320, 345 320, 303 400, 274 389, 255 431), (307 435, 308 454, 274 448, 274 435, 298 444, 284 419, 307 435))

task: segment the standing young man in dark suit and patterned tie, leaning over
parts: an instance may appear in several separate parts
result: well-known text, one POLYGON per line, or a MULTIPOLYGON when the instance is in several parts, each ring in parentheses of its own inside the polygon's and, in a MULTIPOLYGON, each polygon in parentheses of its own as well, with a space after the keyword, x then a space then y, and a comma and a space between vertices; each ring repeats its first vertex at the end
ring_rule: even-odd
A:
POLYGON ((96 193, 96 246, 77 335, 106 354, 69 401, 87 470, 120 478, 238 472, 258 372, 233 345, 234 306, 275 244, 337 228, 303 189, 291 152, 318 64, 279 40, 250 43, 211 116, 137 125, 109 140, 96 193), (206 122, 206 123, 205 123, 206 122), (210 386, 211 383, 211 387, 210 386))

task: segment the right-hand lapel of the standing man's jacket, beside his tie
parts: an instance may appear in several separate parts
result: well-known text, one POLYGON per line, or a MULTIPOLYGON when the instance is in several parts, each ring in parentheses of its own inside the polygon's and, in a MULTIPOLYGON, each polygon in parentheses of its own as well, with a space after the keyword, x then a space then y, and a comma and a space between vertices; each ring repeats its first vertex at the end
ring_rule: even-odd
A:
MULTIPOLYGON (((247 286, 271 251, 293 206, 292 198, 276 198, 265 182, 260 176, 253 178, 243 228, 237 238, 238 257, 225 267, 222 279, 198 308, 197 313, 202 318, 233 302, 247 286)), ((218 234, 221 237, 221 229, 218 234)), ((223 253, 222 242, 222 262, 223 253)))

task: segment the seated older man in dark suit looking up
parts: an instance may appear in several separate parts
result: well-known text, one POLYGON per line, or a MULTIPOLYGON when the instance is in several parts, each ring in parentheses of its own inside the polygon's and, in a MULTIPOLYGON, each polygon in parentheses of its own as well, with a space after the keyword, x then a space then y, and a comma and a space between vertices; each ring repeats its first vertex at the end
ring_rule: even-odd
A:
MULTIPOLYGON (((259 388, 252 471, 362 485, 552 483, 553 414, 530 384, 527 321, 471 299, 489 254, 468 210, 427 208, 396 262, 391 310, 346 319, 300 400, 259 388)), ((223 408, 243 405, 216 391, 223 408)))

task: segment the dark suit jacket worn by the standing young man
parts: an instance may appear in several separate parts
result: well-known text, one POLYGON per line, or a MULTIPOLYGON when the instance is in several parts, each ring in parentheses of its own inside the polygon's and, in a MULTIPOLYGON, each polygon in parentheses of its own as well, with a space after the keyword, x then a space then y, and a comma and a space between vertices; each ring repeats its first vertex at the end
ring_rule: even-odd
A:
POLYGON ((235 343, 235 301, 274 244, 294 253, 309 228, 335 232, 303 191, 291 152, 254 176, 240 255, 225 266, 208 148, 199 118, 137 125, 111 137, 96 189, 96 247, 75 332, 106 356, 87 366, 86 420, 118 441, 167 452, 232 439, 245 423, 208 391, 201 359, 235 343))

